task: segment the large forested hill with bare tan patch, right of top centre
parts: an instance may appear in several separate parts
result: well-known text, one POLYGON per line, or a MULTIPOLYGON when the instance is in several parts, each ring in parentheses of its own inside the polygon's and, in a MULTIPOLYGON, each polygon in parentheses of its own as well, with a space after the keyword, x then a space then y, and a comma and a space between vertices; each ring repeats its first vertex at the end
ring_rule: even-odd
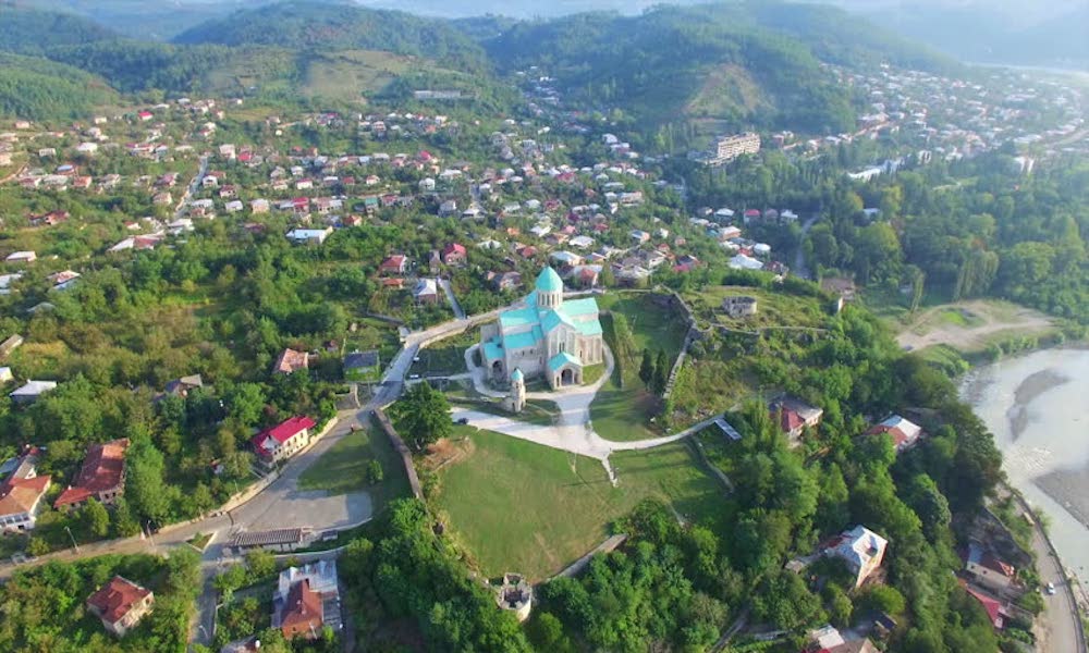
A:
MULTIPOLYGON (((849 98, 804 45, 735 21, 733 7, 660 8, 522 23, 486 41, 497 62, 546 66, 565 90, 636 120, 719 119, 717 128, 853 125, 849 98)), ((751 19, 751 16, 749 16, 751 19)))

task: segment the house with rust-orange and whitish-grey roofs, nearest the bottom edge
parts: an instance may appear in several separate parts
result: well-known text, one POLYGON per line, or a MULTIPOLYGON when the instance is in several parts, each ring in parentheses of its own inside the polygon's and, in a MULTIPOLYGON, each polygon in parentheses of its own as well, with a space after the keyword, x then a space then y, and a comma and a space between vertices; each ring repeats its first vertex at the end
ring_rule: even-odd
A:
POLYGON ((318 639, 326 626, 340 629, 340 607, 335 560, 289 567, 272 594, 272 627, 286 639, 318 639))

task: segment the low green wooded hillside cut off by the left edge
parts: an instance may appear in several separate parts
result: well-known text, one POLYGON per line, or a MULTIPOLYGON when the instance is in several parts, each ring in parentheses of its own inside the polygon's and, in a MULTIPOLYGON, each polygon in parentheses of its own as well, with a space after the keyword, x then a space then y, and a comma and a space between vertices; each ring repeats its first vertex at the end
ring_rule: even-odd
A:
POLYGON ((0 115, 72 120, 117 99, 117 91, 106 82, 78 69, 0 53, 0 115))

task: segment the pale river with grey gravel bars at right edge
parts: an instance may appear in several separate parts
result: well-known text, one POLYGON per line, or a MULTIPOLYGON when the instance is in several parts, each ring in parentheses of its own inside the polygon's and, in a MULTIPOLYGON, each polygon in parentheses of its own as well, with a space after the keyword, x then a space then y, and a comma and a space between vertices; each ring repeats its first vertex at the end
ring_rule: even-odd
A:
POLYGON ((1010 482, 1050 517, 1063 564, 1089 584, 1089 350, 978 368, 960 394, 994 433, 1010 482))

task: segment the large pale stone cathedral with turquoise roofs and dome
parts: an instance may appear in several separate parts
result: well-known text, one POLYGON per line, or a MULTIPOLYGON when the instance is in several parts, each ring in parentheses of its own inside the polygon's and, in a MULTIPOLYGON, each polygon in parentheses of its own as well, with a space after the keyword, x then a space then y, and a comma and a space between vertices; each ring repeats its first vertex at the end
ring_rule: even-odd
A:
POLYGON ((480 350, 493 379, 515 370, 543 377, 553 390, 580 385, 583 368, 604 360, 604 341, 592 297, 563 298, 563 280, 552 268, 537 276, 522 306, 509 308, 480 330, 480 350))

